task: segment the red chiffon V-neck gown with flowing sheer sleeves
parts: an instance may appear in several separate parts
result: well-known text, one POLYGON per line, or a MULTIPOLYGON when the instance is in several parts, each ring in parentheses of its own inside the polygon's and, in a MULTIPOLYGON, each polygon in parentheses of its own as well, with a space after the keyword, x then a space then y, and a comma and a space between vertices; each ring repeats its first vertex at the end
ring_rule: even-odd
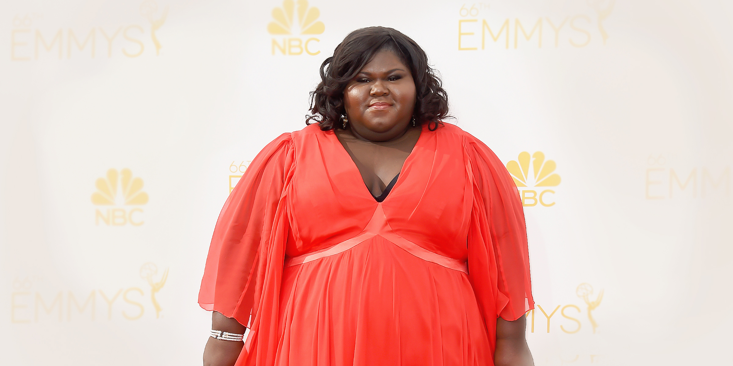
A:
POLYGON ((484 143, 423 127, 383 202, 317 124, 265 146, 224 204, 199 304, 250 329, 236 365, 493 365, 534 307, 515 183, 484 143))

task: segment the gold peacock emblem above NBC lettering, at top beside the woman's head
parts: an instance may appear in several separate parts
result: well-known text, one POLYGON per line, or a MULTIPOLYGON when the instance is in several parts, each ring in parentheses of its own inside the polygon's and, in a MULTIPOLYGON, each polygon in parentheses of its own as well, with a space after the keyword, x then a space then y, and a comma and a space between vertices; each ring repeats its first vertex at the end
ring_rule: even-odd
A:
MULTIPOLYGON (((292 26, 295 4, 292 0, 284 0, 282 7, 273 9, 273 21, 268 24, 270 34, 293 34, 292 26)), ((317 7, 308 7, 308 1, 298 0, 298 26, 300 34, 322 34, 325 25, 318 20, 320 11, 317 7)))

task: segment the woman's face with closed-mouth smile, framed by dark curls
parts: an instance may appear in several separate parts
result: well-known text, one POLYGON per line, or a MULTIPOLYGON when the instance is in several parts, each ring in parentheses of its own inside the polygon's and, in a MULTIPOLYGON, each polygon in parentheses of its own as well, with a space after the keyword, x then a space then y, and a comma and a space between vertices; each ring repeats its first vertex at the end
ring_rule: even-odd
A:
POLYGON ((386 50, 377 52, 344 91, 350 128, 369 141, 401 136, 410 126, 415 101, 410 68, 386 50))

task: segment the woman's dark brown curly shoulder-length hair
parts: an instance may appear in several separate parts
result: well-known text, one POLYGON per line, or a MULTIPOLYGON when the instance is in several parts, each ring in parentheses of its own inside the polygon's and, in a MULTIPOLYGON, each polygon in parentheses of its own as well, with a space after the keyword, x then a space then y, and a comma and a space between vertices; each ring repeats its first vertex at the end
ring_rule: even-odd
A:
POLYGON ((427 122, 430 130, 436 130, 441 119, 452 118, 448 114, 448 94, 435 70, 427 64, 425 51, 395 29, 372 26, 352 31, 336 46, 334 56, 323 61, 321 82, 311 91, 310 111, 313 114, 308 116, 306 124, 320 123, 324 131, 339 127, 341 116, 346 114, 344 90, 347 83, 382 50, 396 53, 400 61, 410 67, 416 89, 413 111, 416 124, 427 122))

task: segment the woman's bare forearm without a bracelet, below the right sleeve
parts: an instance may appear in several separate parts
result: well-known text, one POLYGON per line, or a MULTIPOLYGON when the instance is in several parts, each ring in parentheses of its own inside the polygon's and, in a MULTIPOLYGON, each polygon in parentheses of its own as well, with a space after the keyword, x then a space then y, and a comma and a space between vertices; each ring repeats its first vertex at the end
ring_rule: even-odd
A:
POLYGON ((496 366, 534 366, 532 354, 525 338, 526 318, 515 321, 496 319, 496 366))

